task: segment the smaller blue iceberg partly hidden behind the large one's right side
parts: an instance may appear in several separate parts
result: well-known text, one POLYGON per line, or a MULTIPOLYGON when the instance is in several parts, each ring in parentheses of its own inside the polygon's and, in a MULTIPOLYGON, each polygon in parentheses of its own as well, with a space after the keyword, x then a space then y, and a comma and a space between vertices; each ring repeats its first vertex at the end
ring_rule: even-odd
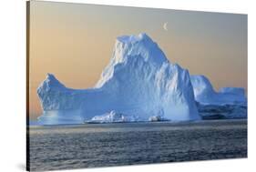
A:
POLYGON ((216 92, 206 76, 190 76, 190 81, 203 119, 247 117, 247 98, 244 88, 222 87, 216 92))

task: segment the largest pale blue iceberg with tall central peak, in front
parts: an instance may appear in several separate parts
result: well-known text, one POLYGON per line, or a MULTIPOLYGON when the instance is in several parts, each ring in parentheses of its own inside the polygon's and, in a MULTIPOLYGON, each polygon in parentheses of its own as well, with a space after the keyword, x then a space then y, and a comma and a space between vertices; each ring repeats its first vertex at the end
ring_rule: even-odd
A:
POLYGON ((110 63, 94 88, 67 88, 47 75, 37 93, 44 110, 39 117, 42 124, 75 124, 106 117, 111 121, 117 114, 122 114, 118 120, 126 116, 145 121, 150 116, 200 119, 188 70, 171 64, 146 34, 117 38, 110 63))

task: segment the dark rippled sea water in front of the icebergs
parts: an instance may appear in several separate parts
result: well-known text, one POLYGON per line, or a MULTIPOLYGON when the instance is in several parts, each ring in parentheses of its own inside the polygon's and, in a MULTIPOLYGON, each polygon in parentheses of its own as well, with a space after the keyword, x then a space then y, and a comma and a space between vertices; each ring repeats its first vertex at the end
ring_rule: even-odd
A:
POLYGON ((30 126, 30 169, 247 157, 247 120, 30 126))

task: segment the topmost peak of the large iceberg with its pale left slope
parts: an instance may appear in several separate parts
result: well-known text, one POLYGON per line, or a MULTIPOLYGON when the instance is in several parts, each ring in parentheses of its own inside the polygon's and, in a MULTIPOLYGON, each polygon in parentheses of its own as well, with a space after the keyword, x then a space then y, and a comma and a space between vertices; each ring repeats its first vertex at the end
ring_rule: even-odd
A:
POLYGON ((169 63, 168 58, 148 35, 142 33, 118 36, 110 63, 103 70, 96 87, 107 83, 114 72, 124 64, 130 68, 139 64, 143 64, 142 68, 147 65, 159 68, 164 63, 169 63))

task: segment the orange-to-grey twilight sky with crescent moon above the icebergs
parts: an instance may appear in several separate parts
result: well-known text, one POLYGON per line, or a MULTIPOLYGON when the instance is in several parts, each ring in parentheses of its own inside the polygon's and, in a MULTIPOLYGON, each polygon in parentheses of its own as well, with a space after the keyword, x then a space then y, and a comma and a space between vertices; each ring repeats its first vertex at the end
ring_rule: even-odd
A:
POLYGON ((67 87, 95 86, 118 35, 147 33, 171 63, 207 76, 216 91, 247 91, 247 25, 239 14, 31 1, 29 117, 42 114, 36 88, 47 73, 67 87))

